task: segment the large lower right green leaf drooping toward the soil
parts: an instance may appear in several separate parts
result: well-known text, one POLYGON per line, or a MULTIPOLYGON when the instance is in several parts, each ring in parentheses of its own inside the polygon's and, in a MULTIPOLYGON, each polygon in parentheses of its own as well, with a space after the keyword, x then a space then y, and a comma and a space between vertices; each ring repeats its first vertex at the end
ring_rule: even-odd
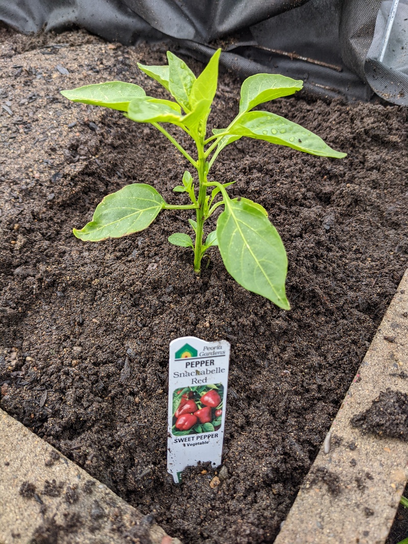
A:
POLYGON ((227 200, 217 221, 225 268, 242 287, 289 310, 286 251, 276 228, 248 201, 227 200))

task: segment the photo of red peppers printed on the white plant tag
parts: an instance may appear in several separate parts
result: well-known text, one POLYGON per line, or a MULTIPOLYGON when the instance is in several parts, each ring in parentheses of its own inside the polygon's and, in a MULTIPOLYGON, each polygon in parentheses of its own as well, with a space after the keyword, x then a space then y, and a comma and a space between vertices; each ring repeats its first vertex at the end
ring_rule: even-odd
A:
POLYGON ((177 389, 173 393, 174 436, 217 431, 222 421, 222 384, 206 384, 177 389))

